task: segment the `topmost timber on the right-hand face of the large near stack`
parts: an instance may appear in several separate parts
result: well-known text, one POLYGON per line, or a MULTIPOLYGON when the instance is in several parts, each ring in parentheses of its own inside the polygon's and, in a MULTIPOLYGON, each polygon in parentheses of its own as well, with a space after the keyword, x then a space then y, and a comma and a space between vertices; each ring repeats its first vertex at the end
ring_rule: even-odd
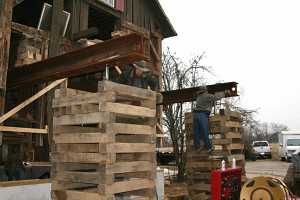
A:
POLYGON ((99 92, 101 91, 114 91, 118 96, 131 97, 134 100, 154 100, 156 101, 156 92, 151 90, 145 90, 133 86, 123 85, 114 83, 111 81, 101 81, 98 87, 99 92))

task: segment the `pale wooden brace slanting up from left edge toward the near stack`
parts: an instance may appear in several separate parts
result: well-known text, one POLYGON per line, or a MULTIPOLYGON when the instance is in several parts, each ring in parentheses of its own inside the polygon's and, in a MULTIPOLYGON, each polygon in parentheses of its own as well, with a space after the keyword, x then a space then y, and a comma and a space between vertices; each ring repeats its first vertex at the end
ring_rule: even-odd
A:
POLYGON ((47 92, 51 91, 52 89, 57 87, 59 84, 63 83, 64 81, 66 81, 66 79, 60 79, 60 80, 54 81, 53 83, 51 83, 50 85, 48 85, 47 87, 45 87, 44 89, 42 89, 41 91, 39 91, 38 93, 33 95, 32 97, 30 97, 29 99, 25 100, 24 102, 22 102, 15 108, 11 109, 9 112, 7 112, 6 114, 4 114, 0 117, 0 123, 3 123, 8 118, 15 115, 18 111, 22 110, 24 107, 31 104, 32 102, 34 102, 35 100, 37 100, 38 98, 40 98, 41 96, 46 94, 47 92))

